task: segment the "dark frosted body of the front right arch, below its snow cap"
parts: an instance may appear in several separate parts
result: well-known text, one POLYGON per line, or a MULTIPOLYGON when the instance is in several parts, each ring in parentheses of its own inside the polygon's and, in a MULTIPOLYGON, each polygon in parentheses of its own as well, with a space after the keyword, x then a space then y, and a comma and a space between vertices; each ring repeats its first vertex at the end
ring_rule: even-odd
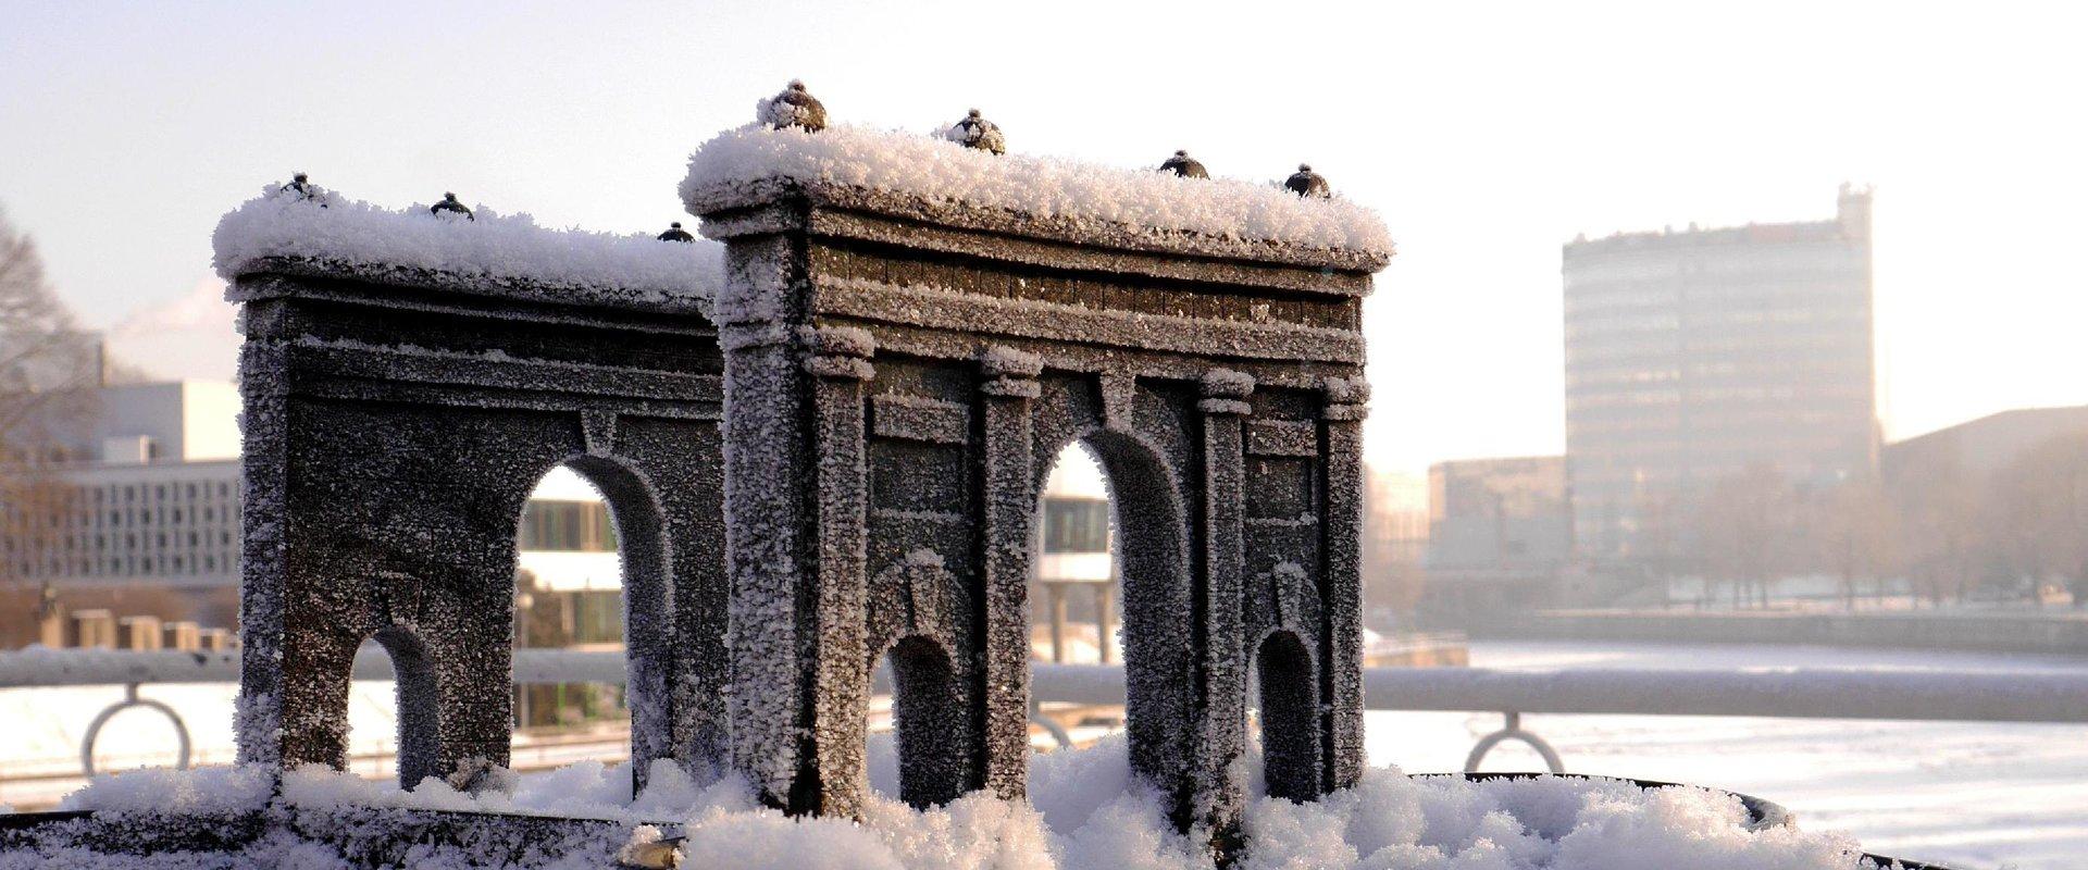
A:
POLYGON ((735 707, 768 714, 735 716, 733 762, 773 803, 856 812, 877 661, 908 801, 1021 795, 1031 524, 1075 440, 1117 497, 1132 766, 1176 822, 1226 847, 1255 680, 1278 791, 1355 780, 1370 265, 1077 246, 825 190, 704 219, 729 244, 727 461, 793 494, 735 503, 727 536, 735 613, 798 620, 733 632, 743 691, 804 674, 735 707), (775 567, 783 540, 810 570, 775 567))

